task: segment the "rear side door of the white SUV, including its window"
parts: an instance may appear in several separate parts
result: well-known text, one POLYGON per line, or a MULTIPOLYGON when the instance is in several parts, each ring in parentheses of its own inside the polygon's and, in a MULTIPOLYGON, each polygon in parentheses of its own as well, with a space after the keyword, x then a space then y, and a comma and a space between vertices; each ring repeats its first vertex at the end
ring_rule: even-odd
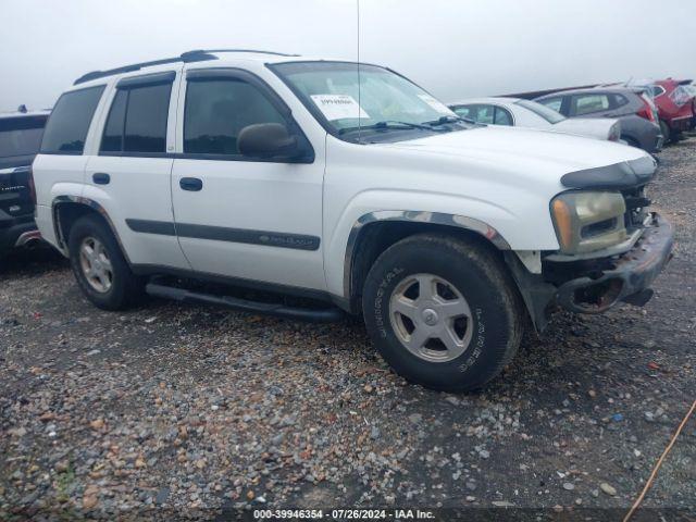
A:
POLYGON ((85 197, 116 226, 136 270, 190 269, 176 239, 170 178, 182 67, 123 77, 109 92, 99 150, 87 162, 85 197), (169 145, 167 145, 169 144, 169 145))

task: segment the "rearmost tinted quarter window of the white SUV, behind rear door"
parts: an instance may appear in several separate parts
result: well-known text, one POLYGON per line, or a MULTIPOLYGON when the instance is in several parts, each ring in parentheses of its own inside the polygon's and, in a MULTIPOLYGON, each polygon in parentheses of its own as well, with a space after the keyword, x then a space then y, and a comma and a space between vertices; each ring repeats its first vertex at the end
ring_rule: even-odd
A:
POLYGON ((63 94, 46 124, 40 152, 44 154, 82 154, 95 110, 104 86, 63 94))

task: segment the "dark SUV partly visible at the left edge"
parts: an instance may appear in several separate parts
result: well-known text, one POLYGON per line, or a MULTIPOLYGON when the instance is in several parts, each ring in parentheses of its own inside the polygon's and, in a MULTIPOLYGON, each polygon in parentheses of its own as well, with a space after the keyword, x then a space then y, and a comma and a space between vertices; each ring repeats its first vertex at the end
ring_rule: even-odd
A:
POLYGON ((49 111, 0 114, 0 258, 40 239, 34 222, 28 172, 49 111))

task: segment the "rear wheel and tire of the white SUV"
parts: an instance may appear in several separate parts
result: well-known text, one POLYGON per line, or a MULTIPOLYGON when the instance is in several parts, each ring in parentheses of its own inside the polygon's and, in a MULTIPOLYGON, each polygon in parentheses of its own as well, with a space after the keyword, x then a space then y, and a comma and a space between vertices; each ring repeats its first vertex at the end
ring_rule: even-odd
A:
MULTIPOLYGON (((107 223, 97 215, 85 215, 78 219, 70 231, 67 241, 70 264, 77 279, 79 288, 87 299, 102 310, 124 310, 135 304, 144 295, 142 281, 135 276, 126 262, 119 243, 107 223), (83 257, 80 249, 91 248, 99 258, 102 272, 111 272, 105 279, 88 277, 85 263, 87 254, 83 257), (110 271, 105 266, 110 266, 110 271), (108 284, 104 281, 108 279, 108 284), (101 289, 99 288, 101 287, 101 289)), ((97 273, 97 272, 95 272, 97 273)))

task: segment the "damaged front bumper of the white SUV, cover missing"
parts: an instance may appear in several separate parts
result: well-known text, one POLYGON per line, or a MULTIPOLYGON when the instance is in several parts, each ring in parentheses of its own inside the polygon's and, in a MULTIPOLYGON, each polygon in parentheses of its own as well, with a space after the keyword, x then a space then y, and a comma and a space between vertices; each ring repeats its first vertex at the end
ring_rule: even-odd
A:
POLYGON ((559 261, 549 256, 543 274, 534 275, 506 257, 524 298, 532 321, 542 331, 552 309, 560 306, 575 313, 601 313, 623 301, 643 306, 652 296, 649 288, 672 258, 672 225, 657 213, 644 223, 630 249, 592 259, 559 261))

